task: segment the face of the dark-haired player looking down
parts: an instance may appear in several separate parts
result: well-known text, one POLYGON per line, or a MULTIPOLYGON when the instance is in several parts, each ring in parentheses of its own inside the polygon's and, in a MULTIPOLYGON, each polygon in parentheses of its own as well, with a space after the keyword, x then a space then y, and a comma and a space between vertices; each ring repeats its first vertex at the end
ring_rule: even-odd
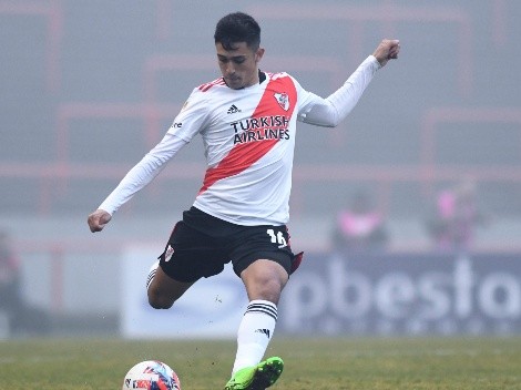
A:
POLYGON ((246 42, 234 44, 233 50, 226 50, 217 42, 218 66, 223 74, 226 85, 233 90, 241 90, 258 83, 258 62, 260 61, 264 49, 252 50, 246 42))

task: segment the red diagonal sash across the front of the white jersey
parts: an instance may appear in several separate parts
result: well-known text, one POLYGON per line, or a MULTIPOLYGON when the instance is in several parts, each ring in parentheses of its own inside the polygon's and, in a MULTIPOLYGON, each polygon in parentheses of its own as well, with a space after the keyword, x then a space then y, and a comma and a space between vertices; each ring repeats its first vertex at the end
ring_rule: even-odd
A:
MULTIPOLYGON (((285 115, 290 117, 296 103, 297 91, 289 76, 270 80, 252 117, 270 115, 285 115), (287 111, 282 107, 282 104, 275 98, 275 93, 277 92, 287 94, 289 99, 289 109, 287 111)), ((235 144, 229 153, 215 167, 206 170, 203 187, 197 195, 204 193, 215 182, 247 170, 266 155, 278 141, 278 138, 275 138, 235 144)))

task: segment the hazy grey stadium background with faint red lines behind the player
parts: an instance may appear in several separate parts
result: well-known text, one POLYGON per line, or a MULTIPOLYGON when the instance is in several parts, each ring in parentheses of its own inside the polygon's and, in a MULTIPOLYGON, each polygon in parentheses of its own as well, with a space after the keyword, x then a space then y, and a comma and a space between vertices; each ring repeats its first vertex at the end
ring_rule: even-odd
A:
MULTIPOLYGON (((262 69, 324 96, 382 38, 402 47, 338 129, 299 127, 290 229, 308 255, 282 330, 519 332, 519 1, 1 0, 0 228, 20 260, 24 301, 49 315, 51 335, 146 336, 132 328, 140 312, 126 299, 132 290, 144 299, 144 274, 123 266, 151 254, 147 268, 192 204, 200 140, 102 234, 89 232, 86 216, 161 140, 191 90, 218 76, 214 27, 236 10, 263 28, 262 69), (427 228, 436 196, 469 177, 490 220, 464 254, 439 254, 427 228), (384 213, 389 242, 349 258, 334 250, 331 232, 359 191, 384 213)), ((0 310, 3 337, 9 316, 0 310)))

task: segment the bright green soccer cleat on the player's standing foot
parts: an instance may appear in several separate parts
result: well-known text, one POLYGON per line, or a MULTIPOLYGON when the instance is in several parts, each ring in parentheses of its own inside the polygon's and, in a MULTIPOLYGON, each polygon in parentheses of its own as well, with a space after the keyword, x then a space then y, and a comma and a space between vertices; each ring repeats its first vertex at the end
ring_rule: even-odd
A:
POLYGON ((246 367, 235 372, 224 390, 265 390, 277 381, 283 369, 283 359, 266 359, 255 367, 246 367))

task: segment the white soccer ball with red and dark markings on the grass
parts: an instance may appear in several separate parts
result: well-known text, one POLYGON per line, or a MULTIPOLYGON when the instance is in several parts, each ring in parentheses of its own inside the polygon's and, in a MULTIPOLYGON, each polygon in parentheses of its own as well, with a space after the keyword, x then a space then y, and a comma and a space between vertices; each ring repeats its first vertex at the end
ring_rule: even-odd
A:
POLYGON ((177 374, 167 365, 146 360, 132 367, 123 380, 122 390, 181 390, 177 374))

